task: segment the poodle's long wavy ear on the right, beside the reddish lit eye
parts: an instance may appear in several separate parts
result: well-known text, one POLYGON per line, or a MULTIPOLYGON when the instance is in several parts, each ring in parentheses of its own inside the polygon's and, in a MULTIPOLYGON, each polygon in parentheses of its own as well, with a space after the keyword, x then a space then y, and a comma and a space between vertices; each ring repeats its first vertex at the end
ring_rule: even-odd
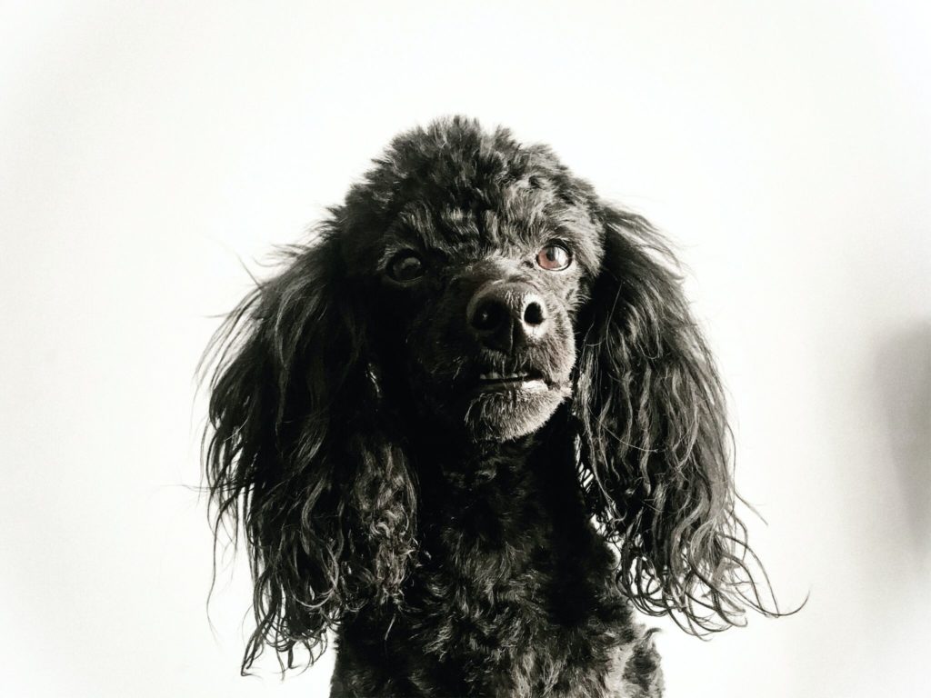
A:
POLYGON ((641 217, 608 207, 599 217, 604 258, 580 318, 573 411, 618 582, 641 611, 696 635, 742 624, 746 608, 776 615, 735 515, 722 387, 675 261, 641 217))

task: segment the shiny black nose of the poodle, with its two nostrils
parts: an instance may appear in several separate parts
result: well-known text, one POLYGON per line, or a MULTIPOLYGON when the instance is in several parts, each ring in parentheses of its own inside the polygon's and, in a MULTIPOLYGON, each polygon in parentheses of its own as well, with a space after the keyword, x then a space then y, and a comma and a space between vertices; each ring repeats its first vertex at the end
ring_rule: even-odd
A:
POLYGON ((480 288, 468 303, 466 317, 479 342, 506 354, 538 341, 549 328, 543 297, 518 281, 480 288))

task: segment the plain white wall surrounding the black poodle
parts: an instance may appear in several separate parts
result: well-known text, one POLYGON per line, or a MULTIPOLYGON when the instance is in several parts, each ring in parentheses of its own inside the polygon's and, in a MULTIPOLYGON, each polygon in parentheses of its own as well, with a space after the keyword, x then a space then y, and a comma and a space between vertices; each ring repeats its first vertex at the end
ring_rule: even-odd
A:
POLYGON ((0 27, 0 693, 325 695, 329 656, 239 678, 241 559, 211 630, 193 374, 239 258, 263 273, 398 130, 456 113, 677 241, 752 540, 786 606, 811 595, 664 630, 668 695, 923 690, 926 3, 23 2, 0 27))

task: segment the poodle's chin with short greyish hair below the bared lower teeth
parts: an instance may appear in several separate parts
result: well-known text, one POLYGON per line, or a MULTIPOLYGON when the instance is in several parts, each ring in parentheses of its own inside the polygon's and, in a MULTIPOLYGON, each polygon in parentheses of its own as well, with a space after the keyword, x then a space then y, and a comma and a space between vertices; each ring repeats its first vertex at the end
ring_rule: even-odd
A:
POLYGON ((469 437, 473 441, 503 442, 533 434, 570 394, 568 385, 528 383, 482 390, 472 396, 465 420, 469 437))

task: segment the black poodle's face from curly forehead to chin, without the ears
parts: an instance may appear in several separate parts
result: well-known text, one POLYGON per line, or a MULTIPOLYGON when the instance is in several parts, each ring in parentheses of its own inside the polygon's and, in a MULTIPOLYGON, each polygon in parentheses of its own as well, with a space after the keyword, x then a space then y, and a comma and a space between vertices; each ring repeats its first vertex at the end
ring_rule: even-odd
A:
POLYGON ((357 232, 381 380, 451 436, 524 436, 572 393, 573 324, 598 273, 599 228, 544 149, 433 146, 414 163, 385 162, 351 195, 372 212, 357 232))

